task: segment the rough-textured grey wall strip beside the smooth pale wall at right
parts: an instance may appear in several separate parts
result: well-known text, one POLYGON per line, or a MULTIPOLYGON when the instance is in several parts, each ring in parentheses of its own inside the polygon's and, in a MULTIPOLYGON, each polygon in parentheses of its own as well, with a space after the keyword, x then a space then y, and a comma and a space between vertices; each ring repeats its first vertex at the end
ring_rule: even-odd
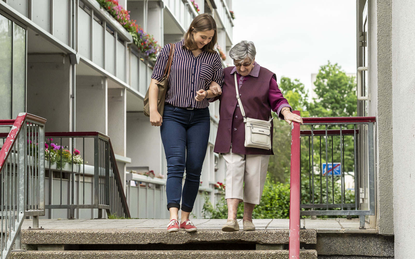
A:
MULTIPOLYGON (((392 148, 392 0, 377 0, 376 48, 376 161, 379 234, 393 234, 393 151, 392 148)), ((370 54, 370 52, 369 52, 370 54)), ((370 58, 371 59, 371 58, 370 58)), ((372 73, 374 74, 374 73, 372 73)), ((374 114, 374 113, 371 113, 374 114)))

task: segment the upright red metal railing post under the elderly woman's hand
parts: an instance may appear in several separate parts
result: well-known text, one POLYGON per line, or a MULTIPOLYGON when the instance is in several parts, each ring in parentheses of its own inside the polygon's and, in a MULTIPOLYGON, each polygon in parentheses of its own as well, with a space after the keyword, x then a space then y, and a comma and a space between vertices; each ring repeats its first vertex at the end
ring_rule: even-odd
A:
MULTIPOLYGON (((300 115, 300 111, 293 111, 300 115)), ((291 123, 289 259, 300 259, 300 123, 291 123)))

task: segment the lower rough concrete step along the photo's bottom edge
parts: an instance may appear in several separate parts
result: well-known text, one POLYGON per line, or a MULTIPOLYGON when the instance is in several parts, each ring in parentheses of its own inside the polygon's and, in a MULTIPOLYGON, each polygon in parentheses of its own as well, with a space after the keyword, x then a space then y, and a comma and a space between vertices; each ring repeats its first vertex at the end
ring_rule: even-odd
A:
MULTIPOLYGON (((10 259, 288 259, 287 250, 198 251, 26 251, 11 252, 10 259)), ((317 259, 315 250, 300 251, 300 259, 317 259)))

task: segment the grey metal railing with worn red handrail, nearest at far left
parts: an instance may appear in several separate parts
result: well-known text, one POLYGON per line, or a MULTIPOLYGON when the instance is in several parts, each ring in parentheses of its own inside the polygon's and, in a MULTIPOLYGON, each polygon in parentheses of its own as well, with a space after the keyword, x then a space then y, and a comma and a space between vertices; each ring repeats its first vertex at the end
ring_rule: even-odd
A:
POLYGON ((0 120, 0 258, 10 254, 13 245, 20 250, 21 227, 25 217, 33 216, 39 228, 44 204, 44 125, 46 120, 20 113, 15 120, 0 120))

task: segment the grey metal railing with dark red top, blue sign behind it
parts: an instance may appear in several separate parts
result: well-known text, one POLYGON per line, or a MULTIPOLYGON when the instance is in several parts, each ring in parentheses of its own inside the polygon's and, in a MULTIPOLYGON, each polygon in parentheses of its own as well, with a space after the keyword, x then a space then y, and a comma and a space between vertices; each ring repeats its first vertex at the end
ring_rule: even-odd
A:
POLYGON ((303 118, 301 215, 374 215, 375 117, 303 118))

